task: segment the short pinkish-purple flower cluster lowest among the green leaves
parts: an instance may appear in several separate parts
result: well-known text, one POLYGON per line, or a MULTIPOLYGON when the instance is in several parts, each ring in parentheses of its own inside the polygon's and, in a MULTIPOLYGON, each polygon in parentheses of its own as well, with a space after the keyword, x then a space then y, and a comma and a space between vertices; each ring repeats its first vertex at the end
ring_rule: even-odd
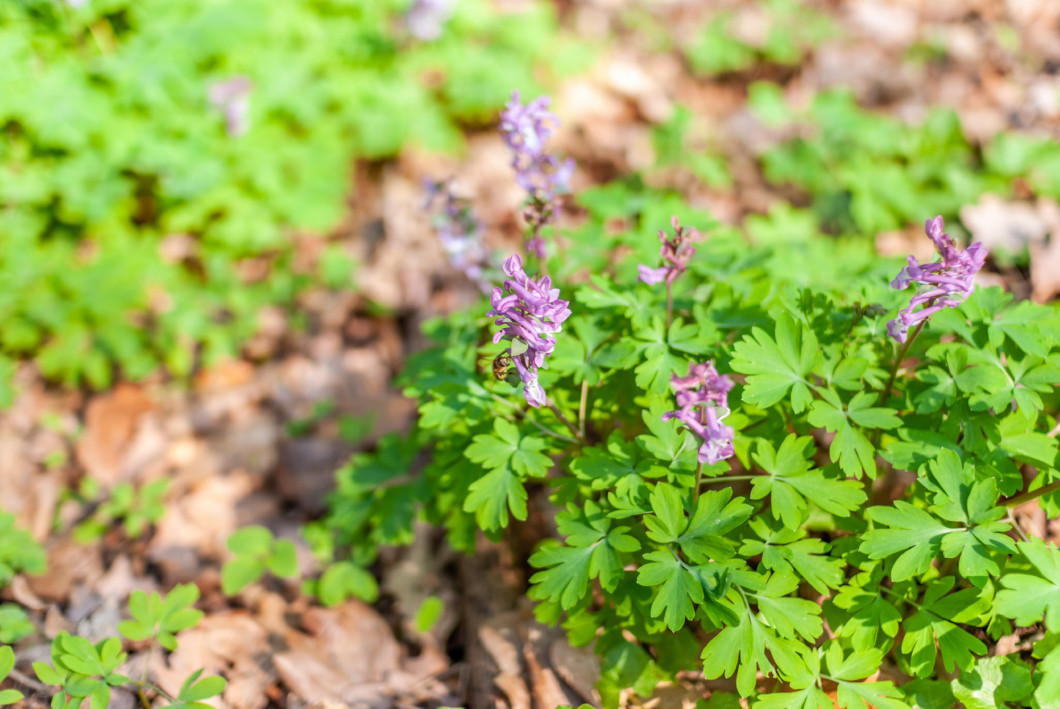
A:
POLYGON ((712 465, 734 454, 731 426, 722 423, 728 415, 728 392, 732 380, 719 374, 712 361, 692 364, 688 376, 677 376, 670 382, 676 392, 676 411, 662 414, 662 421, 676 419, 703 439, 699 461, 712 465))

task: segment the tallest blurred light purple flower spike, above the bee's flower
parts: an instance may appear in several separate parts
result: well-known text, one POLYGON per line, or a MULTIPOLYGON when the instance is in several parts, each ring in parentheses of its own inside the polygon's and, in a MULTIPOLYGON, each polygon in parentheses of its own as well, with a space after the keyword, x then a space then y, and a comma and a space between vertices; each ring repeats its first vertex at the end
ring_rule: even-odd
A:
POLYGON ((538 258, 545 255, 541 230, 554 218, 560 195, 570 191, 575 172, 573 160, 560 160, 545 150, 560 124, 549 104, 548 96, 538 96, 524 106, 519 92, 513 91, 500 113, 500 137, 512 154, 515 181, 529 195, 524 212, 530 232, 527 250, 538 258))

